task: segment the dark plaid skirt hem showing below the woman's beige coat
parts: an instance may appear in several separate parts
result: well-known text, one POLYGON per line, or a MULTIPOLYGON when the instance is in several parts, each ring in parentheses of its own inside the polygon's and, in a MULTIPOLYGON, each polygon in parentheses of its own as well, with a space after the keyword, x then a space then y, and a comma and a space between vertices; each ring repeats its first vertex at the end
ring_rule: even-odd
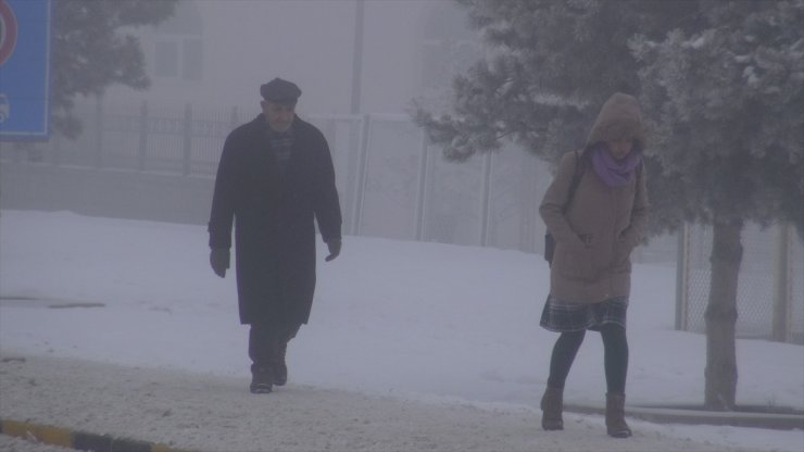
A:
POLYGON ((615 297, 599 303, 565 303, 548 296, 539 324, 542 328, 565 332, 591 329, 599 331, 603 324, 626 327, 628 297, 615 297))

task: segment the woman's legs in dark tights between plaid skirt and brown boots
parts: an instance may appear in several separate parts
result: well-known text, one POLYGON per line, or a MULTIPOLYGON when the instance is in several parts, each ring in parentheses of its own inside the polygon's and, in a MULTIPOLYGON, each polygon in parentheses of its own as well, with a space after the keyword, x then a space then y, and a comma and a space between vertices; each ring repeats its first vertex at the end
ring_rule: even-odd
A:
MULTIPOLYGON (((550 377, 548 385, 564 388, 569 367, 583 342, 586 330, 562 332, 553 347, 550 359, 550 377)), ((600 327, 603 338, 603 366, 606 374, 606 389, 612 393, 626 392, 626 374, 628 374, 628 339, 626 329, 617 324, 604 324, 600 327)))

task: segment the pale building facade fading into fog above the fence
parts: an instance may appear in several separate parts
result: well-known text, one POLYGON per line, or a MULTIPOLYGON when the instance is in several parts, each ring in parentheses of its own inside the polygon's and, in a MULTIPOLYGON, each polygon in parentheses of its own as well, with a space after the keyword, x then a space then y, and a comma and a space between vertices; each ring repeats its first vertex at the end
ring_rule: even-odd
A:
MULTIPOLYGON (((256 108, 259 86, 279 76, 302 88, 300 111, 350 113, 357 58, 359 111, 402 112, 423 85, 423 46, 432 39, 427 35, 443 32, 428 24, 444 23, 441 17, 450 16, 447 24, 461 28, 464 13, 450 1, 362 2, 363 47, 357 54, 360 5, 355 0, 185 1, 155 33, 141 34, 153 80, 149 97, 256 108), (183 43, 196 38, 203 48, 200 79, 154 75, 153 49, 160 41, 177 41, 181 59, 183 43)), ((131 92, 125 88, 110 91, 110 97, 126 95, 131 92)))

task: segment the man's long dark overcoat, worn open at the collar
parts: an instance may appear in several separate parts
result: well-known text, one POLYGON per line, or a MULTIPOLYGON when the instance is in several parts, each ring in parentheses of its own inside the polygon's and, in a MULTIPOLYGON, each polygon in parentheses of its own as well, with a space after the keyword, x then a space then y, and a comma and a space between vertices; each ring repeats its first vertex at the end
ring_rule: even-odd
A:
POLYGON ((234 223, 240 323, 306 324, 315 290, 314 222, 324 241, 341 238, 335 170, 324 135, 297 116, 290 159, 280 171, 267 127, 260 114, 226 138, 210 247, 230 248, 234 223))

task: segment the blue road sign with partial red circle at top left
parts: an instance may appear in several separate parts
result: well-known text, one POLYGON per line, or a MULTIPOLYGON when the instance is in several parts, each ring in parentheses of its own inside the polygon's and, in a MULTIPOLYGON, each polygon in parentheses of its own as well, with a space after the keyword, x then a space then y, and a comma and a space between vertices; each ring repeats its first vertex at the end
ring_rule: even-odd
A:
POLYGON ((0 139, 50 133, 50 0, 0 0, 0 139))

